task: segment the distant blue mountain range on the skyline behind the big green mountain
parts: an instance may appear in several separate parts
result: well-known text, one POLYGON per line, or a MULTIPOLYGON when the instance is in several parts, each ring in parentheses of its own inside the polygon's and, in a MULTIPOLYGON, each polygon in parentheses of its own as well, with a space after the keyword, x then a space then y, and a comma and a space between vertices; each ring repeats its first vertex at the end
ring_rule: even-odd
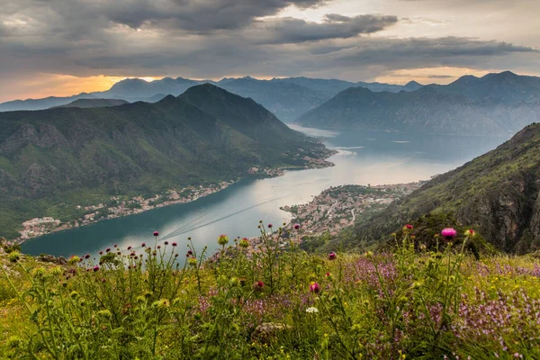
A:
POLYGON ((202 84, 217 85, 243 97, 250 97, 266 109, 274 112, 283 121, 293 121, 334 95, 351 86, 364 86, 372 91, 399 92, 414 91, 422 85, 410 82, 407 85, 389 85, 381 83, 352 83, 337 79, 312 79, 308 77, 275 78, 257 80, 253 77, 223 78, 220 81, 191 80, 183 77, 165 77, 147 82, 138 78, 125 79, 112 85, 111 89, 92 94, 78 94, 69 97, 49 97, 36 100, 15 100, 0 103, 0 112, 17 110, 43 110, 53 106, 71 103, 77 99, 111 98, 133 103, 143 101, 156 103, 167 94, 179 95, 185 90, 202 84))

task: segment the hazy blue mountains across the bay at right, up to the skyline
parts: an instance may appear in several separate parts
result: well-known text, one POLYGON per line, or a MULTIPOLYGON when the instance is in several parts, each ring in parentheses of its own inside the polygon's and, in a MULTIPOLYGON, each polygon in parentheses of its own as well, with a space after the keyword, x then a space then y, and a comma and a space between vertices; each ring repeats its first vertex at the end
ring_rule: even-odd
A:
POLYGON ((351 87, 298 122, 322 128, 509 135, 540 121, 540 77, 463 76, 399 93, 351 87))

